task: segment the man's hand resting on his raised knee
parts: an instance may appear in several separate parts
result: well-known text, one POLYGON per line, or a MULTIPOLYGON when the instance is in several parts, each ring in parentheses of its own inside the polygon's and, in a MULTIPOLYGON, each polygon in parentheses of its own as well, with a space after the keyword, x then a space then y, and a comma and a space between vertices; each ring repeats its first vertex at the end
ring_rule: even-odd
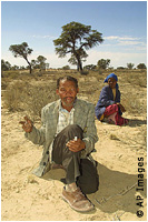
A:
POLYGON ((86 148, 86 143, 80 139, 77 139, 77 141, 70 140, 66 145, 72 152, 79 152, 80 150, 83 150, 86 148))

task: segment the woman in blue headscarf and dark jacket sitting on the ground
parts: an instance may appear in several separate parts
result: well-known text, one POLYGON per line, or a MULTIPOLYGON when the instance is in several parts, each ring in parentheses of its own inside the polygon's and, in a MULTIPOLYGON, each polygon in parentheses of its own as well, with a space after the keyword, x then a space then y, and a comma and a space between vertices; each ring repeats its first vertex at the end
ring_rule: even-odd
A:
POLYGON ((117 81, 118 78, 115 73, 106 78, 103 82, 107 82, 108 85, 102 88, 95 112, 100 121, 107 119, 108 123, 122 125, 128 123, 128 119, 121 117, 126 110, 120 103, 120 91, 117 81))

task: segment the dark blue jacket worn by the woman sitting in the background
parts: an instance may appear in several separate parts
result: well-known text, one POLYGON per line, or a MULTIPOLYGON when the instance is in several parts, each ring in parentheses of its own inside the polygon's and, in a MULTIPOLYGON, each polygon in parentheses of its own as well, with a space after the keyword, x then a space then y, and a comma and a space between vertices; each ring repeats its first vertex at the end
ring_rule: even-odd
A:
MULTIPOLYGON (((101 92, 100 92, 100 97, 98 100, 98 103, 95 108, 95 113, 97 119, 100 119, 100 117, 103 114, 103 112, 106 111, 106 108, 110 104, 114 103, 120 103, 120 91, 118 88, 116 88, 116 98, 114 101, 114 93, 112 90, 109 85, 106 85, 102 88, 101 92)), ((121 112, 120 112, 121 114, 121 112)))

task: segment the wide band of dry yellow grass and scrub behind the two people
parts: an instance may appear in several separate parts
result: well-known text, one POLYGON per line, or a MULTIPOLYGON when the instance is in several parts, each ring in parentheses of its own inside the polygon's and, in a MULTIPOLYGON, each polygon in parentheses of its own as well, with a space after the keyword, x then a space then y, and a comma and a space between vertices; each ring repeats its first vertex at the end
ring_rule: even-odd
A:
MULTIPOLYGON (((112 72, 112 71, 111 71, 112 72)), ((9 111, 26 111, 33 119, 40 117, 41 108, 58 99, 56 84, 59 77, 72 75, 78 79, 79 94, 92 102, 98 102, 100 91, 105 85, 103 80, 110 71, 89 71, 87 75, 76 70, 48 70, 45 72, 6 72, 2 78, 4 89, 4 103, 9 111), (14 78, 14 79, 13 79, 14 78)), ((121 91, 121 103, 130 114, 142 114, 147 112, 147 72, 140 70, 115 71, 119 79, 121 91)))

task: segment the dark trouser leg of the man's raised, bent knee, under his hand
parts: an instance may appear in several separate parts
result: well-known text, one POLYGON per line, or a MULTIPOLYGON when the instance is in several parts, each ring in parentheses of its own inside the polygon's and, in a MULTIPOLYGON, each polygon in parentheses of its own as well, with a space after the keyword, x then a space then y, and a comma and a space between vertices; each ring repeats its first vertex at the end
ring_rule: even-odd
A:
POLYGON ((72 152, 66 145, 75 137, 82 139, 82 129, 77 124, 71 124, 65 128, 53 141, 52 160, 65 168, 68 184, 76 182, 76 179, 80 175, 80 151, 72 152))

